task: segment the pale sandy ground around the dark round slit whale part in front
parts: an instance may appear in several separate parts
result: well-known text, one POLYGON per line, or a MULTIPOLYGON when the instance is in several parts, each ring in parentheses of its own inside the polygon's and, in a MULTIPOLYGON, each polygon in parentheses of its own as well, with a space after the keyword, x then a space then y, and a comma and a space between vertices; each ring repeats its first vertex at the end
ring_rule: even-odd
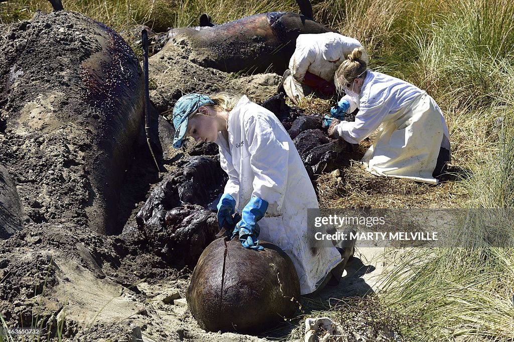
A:
MULTIPOLYGON (((381 248, 357 249, 340 284, 327 286, 319 297, 311 299, 324 303, 325 310, 329 310, 340 298, 365 296, 379 291, 380 275, 384 267, 393 262, 398 252, 399 250, 384 251, 381 248)), ((125 328, 127 331, 136 330, 134 336, 139 333, 136 327, 140 327, 143 341, 266 341, 287 338, 289 332, 296 327, 295 324, 302 325, 302 321, 293 321, 292 324, 285 324, 259 337, 205 332, 198 327, 185 300, 178 298, 185 297, 189 286, 189 274, 173 280, 163 279, 156 283, 148 283, 142 279, 137 283, 137 290, 140 293, 135 294, 108 278, 98 279, 93 272, 83 267, 67 265, 66 261, 61 261, 60 258, 54 261, 59 267, 58 278, 66 280, 61 280, 59 285, 54 286, 49 297, 66 300, 59 304, 56 299, 46 299, 43 305, 47 308, 60 307, 61 314, 57 315, 57 320, 77 322, 78 326, 85 327, 81 333, 84 336, 100 337, 102 327, 105 328, 102 337, 107 338, 109 334, 114 336, 115 333, 109 330, 113 329, 112 324, 116 323, 117 327, 125 328), (87 330, 87 327, 91 327, 90 330, 87 330)), ((125 333, 129 334, 127 331, 125 333)))

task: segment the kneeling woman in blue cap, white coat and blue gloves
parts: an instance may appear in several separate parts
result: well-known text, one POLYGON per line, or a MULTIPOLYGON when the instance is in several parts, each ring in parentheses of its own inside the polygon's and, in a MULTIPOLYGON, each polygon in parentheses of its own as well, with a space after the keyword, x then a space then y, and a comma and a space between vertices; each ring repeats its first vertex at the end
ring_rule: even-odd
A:
MULTIPOLYGON (((182 96, 173 109, 173 147, 185 136, 219 145, 219 159, 229 176, 218 204, 220 227, 242 213, 235 232, 242 245, 262 249, 259 236, 279 246, 295 265, 301 293, 314 292, 341 263, 334 248, 308 245, 307 209, 319 208, 316 193, 291 138, 277 117, 252 103, 225 95, 182 96), (259 221, 259 224, 257 224, 259 221), (260 235, 259 235, 260 233, 260 235)), ((340 276, 340 274, 339 274, 340 276)))

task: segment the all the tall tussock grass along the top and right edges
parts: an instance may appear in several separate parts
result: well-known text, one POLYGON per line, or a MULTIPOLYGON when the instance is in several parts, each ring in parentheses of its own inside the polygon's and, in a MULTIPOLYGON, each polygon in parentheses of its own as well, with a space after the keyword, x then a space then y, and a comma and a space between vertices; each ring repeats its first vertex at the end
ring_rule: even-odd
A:
MULTIPOLYGON (((456 206, 513 208, 512 2, 313 0, 312 4, 315 19, 364 44, 373 70, 415 84, 440 105, 450 128, 453 163, 468 170, 460 184, 469 195, 456 206)), ((203 12, 215 23, 269 11, 299 12, 293 0, 63 0, 63 5, 118 31, 136 24, 156 31, 194 26, 203 12)), ((2 3, 0 21, 28 19, 36 8, 49 11, 50 5, 45 0, 2 3)), ((506 215, 511 218, 511 213, 506 215)), ((470 214, 457 227, 466 247, 412 251, 384 275, 380 300, 421 323, 404 326, 404 336, 419 341, 514 340, 514 250, 509 247, 514 229, 491 227, 486 218, 470 214), (487 238, 492 230, 500 240, 487 238)))

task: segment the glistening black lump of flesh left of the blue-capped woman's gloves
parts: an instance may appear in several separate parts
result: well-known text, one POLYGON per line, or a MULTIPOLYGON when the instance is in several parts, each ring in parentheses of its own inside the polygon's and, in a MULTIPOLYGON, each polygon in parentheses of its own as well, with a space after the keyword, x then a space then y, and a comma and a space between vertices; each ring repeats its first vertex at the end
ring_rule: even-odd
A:
POLYGON ((205 208, 223 192, 227 179, 217 157, 192 156, 155 187, 136 222, 164 261, 196 264, 219 231, 216 214, 205 208))

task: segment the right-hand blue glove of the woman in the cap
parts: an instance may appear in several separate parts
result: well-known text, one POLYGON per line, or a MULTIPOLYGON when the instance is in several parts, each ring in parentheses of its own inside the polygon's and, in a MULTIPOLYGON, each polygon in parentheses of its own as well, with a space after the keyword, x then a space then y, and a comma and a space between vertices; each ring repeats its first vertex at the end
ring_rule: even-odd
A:
POLYGON ((239 235, 239 240, 244 248, 264 250, 264 247, 259 246, 259 240, 257 239, 261 232, 257 222, 264 217, 266 210, 268 210, 268 202, 259 197, 250 198, 243 209, 241 221, 235 225, 232 238, 239 235))

